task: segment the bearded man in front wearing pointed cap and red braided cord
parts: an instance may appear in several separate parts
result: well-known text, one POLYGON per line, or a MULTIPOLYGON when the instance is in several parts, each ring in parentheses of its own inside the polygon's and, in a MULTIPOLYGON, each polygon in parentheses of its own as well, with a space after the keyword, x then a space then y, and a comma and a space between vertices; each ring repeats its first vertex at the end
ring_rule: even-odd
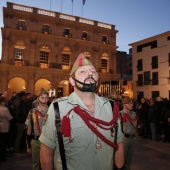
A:
POLYGON ((109 100, 95 94, 98 74, 83 53, 75 61, 70 75, 74 92, 50 105, 39 138, 42 169, 112 170, 113 161, 121 168, 124 163, 123 133, 116 102, 113 113, 109 100), (55 120, 55 114, 60 115, 59 119, 55 120))

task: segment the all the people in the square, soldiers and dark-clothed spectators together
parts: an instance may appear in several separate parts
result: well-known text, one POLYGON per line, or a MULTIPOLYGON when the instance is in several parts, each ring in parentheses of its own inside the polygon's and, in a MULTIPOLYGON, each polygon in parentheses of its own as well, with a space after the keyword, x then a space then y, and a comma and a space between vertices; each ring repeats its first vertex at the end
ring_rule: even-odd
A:
POLYGON ((99 96, 98 74, 83 53, 69 82, 74 92, 57 100, 43 88, 37 96, 1 94, 0 161, 26 150, 33 170, 130 170, 137 135, 170 142, 169 100, 99 96))

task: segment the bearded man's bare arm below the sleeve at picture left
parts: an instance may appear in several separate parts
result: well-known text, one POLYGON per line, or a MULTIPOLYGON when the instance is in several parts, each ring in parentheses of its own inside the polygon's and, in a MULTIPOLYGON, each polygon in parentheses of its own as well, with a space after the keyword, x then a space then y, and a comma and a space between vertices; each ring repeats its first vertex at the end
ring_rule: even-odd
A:
POLYGON ((42 170, 54 169, 54 150, 41 143, 40 162, 42 170))

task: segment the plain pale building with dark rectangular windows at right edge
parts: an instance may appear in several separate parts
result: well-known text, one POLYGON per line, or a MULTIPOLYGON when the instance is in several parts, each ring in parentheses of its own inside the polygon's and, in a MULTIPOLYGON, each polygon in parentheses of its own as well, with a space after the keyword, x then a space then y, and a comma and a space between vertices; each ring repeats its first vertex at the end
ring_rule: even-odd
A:
POLYGON ((130 45, 134 97, 170 99, 170 31, 130 45))

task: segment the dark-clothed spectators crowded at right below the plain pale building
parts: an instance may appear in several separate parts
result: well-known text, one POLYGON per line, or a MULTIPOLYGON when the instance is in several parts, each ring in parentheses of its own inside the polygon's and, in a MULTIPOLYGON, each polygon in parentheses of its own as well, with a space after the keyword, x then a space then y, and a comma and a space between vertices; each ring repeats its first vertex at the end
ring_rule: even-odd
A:
POLYGON ((136 102, 138 134, 150 141, 170 142, 170 100, 160 96, 136 102))

